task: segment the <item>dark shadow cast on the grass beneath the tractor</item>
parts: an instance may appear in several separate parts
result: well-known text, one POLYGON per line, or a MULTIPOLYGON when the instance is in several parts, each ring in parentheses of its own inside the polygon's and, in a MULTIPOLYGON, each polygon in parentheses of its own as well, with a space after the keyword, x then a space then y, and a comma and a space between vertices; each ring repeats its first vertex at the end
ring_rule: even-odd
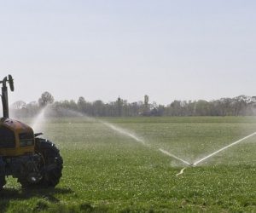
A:
POLYGON ((50 203, 59 203, 60 200, 57 199, 55 195, 68 193, 73 193, 73 190, 70 188, 34 188, 26 190, 3 188, 3 190, 0 191, 0 212, 2 213, 8 210, 10 201, 38 198, 45 199, 50 203))

